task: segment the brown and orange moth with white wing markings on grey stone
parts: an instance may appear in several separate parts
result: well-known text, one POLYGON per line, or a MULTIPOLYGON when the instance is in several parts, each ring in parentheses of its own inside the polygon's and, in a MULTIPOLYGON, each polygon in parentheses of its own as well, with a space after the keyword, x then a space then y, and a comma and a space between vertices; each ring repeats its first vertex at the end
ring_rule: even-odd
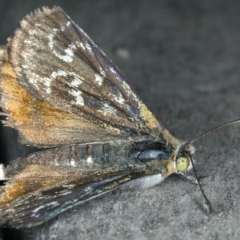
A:
POLYGON ((45 148, 0 165, 1 226, 36 226, 130 181, 146 188, 195 172, 192 142, 162 126, 59 7, 24 17, 0 47, 0 93, 3 123, 45 148))

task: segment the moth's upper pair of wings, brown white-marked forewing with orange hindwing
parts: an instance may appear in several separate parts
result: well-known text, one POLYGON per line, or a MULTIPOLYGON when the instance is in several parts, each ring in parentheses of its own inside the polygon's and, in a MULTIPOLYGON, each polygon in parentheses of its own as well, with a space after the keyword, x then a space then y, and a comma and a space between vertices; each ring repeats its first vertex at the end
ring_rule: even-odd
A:
POLYGON ((123 74, 61 8, 36 10, 20 24, 8 53, 1 50, 1 105, 26 143, 159 135, 123 74))

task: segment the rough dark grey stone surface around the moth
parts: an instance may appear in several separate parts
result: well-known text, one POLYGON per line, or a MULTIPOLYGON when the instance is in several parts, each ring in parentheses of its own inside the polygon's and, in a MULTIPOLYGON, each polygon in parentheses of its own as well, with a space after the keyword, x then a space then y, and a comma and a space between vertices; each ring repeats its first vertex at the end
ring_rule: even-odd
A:
MULTIPOLYGON (((62 6, 179 138, 240 118, 238 0, 0 0, 0 44, 43 5, 62 6)), ((172 176, 146 191, 116 190, 37 228, 3 229, 0 239, 239 239, 239 133, 231 126, 196 144, 209 216, 198 188, 172 176)), ((2 161, 29 150, 16 136, 2 130, 2 161)))

